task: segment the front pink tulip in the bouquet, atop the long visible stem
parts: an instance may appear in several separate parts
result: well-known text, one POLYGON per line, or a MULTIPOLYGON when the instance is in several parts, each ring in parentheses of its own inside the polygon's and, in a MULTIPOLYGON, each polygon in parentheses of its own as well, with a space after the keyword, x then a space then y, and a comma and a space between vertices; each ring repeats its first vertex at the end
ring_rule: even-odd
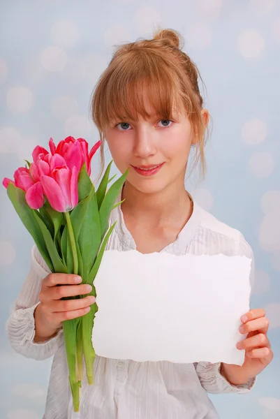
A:
MULTIPOLYGON (((56 156, 57 154, 54 154, 56 156)), ((54 157, 53 156, 53 157, 54 157)), ((49 176, 40 176, 45 196, 58 212, 72 210, 78 204, 78 169, 55 167, 49 176)))

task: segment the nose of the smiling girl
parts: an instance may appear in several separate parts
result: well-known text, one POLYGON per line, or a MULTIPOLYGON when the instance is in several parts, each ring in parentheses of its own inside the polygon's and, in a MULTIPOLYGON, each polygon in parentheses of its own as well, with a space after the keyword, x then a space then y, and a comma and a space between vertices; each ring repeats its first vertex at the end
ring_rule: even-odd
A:
POLYGON ((151 127, 142 124, 135 129, 134 155, 141 159, 147 159, 156 154, 156 141, 151 127))

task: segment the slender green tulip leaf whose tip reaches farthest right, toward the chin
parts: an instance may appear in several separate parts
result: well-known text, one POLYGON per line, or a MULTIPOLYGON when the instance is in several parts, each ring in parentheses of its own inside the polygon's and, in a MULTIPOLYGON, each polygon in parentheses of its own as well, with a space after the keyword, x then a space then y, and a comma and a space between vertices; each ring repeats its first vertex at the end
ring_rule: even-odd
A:
POLYGON ((115 183, 112 184, 108 192, 106 193, 103 202, 101 204, 99 214, 100 214, 100 226, 101 226, 101 240, 103 240, 103 237, 108 230, 108 221, 109 216, 112 211, 112 207, 115 205, 115 201, 117 199, 117 196, 119 195, 119 191, 121 191, 121 187, 124 184, 124 181, 126 179, 126 176, 128 174, 128 169, 126 172, 124 172, 119 179, 116 180, 115 183))

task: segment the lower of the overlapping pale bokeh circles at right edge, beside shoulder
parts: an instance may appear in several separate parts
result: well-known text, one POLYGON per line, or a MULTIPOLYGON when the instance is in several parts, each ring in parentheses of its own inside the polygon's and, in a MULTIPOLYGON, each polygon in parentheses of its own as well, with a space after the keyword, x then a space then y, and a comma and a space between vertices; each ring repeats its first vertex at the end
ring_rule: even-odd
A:
POLYGON ((279 214, 270 213, 263 217, 260 223, 258 240, 265 251, 280 250, 279 214))

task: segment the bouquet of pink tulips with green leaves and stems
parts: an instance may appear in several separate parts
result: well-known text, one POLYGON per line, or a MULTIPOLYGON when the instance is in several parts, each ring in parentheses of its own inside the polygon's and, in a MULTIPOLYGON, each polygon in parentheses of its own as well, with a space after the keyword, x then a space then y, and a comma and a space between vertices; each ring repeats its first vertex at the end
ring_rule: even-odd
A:
MULTIPOLYGON (((105 170, 96 190, 91 182, 91 159, 101 145, 97 142, 89 152, 83 138, 68 137, 57 147, 52 138, 50 151, 39 145, 32 153, 33 161, 18 168, 14 180, 4 178, 8 197, 27 228, 51 272, 79 274, 83 284, 92 286, 101 264, 108 238, 110 212, 126 179, 127 171, 108 189, 115 177, 110 167, 105 170)), ((73 298, 83 297, 83 295, 73 298)), ((82 355, 87 381, 94 383, 94 348, 91 333, 96 304, 85 316, 63 322, 73 407, 79 411, 82 380, 82 355)))

